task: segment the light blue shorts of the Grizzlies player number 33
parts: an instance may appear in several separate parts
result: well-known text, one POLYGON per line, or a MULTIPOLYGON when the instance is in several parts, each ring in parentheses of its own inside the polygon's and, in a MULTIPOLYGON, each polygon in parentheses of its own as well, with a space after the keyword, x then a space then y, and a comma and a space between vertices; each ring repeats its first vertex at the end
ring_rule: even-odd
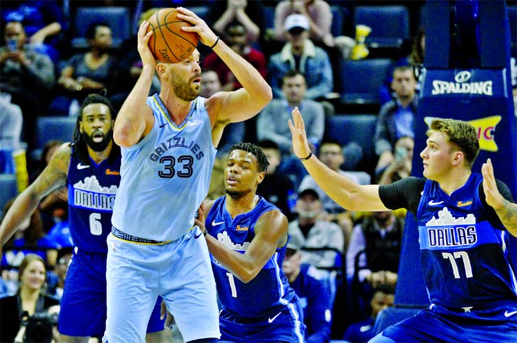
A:
POLYGON ((219 338, 216 286, 199 228, 169 243, 108 236, 108 320, 103 342, 141 343, 156 298, 165 300, 185 342, 219 338))

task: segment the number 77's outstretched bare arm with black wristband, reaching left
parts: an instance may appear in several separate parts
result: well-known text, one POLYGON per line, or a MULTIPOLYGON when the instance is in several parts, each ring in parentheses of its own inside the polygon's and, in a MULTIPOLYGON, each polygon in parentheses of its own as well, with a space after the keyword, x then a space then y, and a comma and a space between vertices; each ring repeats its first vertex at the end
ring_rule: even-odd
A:
POLYGON ((289 129, 292 134, 292 145, 294 154, 303 159, 303 166, 314 178, 318 186, 323 189, 329 197, 343 208, 351 211, 386 211, 381 198, 378 195, 378 185, 361 186, 354 181, 336 173, 320 162, 312 155, 307 142, 305 123, 298 107, 292 111, 292 121, 289 120, 289 129))

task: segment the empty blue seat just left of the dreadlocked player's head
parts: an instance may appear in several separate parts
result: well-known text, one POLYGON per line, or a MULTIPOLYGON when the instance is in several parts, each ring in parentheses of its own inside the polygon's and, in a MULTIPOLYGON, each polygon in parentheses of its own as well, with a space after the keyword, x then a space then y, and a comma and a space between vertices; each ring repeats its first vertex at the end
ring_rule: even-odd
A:
POLYGON ((72 142, 76 122, 75 117, 38 117, 36 120, 36 147, 42 149, 50 140, 72 142))

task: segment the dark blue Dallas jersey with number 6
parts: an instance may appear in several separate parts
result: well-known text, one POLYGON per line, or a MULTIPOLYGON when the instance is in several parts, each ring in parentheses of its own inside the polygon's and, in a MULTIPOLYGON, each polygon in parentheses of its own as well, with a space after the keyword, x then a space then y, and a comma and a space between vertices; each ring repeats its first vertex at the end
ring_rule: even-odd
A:
POLYGON ((74 246, 93 253, 108 253, 115 194, 120 184, 121 159, 83 164, 76 154, 68 168, 68 223, 74 246))

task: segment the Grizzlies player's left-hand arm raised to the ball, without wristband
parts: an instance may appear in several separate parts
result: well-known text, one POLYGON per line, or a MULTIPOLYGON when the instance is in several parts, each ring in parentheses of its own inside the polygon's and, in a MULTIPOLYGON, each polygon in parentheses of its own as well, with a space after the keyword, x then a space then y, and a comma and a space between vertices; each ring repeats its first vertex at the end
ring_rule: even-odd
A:
POLYGON ((152 31, 147 32, 149 23, 143 21, 138 32, 138 51, 143 67, 130 95, 125 99, 115 120, 113 140, 123 147, 133 146, 147 135, 154 124, 152 110, 146 104, 151 89, 156 60, 149 48, 152 31), (146 33, 147 32, 147 33, 146 33))

